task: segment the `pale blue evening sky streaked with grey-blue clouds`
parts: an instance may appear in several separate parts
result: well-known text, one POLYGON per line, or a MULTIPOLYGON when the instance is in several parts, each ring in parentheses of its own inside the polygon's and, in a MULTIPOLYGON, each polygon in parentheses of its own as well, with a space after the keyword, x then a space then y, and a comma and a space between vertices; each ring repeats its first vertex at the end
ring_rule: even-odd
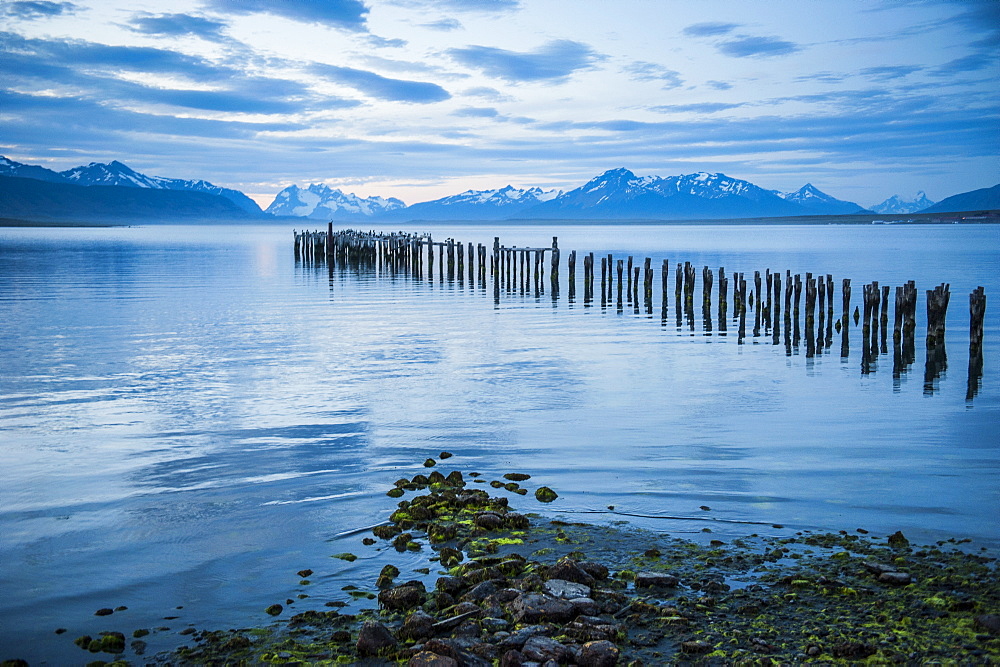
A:
POLYGON ((863 206, 1000 182, 998 0, 0 0, 0 48, 0 154, 262 206, 617 167, 863 206))

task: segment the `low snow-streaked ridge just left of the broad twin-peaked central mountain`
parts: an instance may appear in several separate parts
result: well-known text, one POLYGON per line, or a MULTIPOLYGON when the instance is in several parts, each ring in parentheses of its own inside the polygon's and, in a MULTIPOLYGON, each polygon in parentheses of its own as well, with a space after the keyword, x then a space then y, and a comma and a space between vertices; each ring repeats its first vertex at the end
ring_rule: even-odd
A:
POLYGON ((515 188, 508 185, 496 190, 466 190, 457 195, 420 202, 394 214, 416 220, 503 220, 516 218, 524 211, 562 194, 559 190, 515 188))

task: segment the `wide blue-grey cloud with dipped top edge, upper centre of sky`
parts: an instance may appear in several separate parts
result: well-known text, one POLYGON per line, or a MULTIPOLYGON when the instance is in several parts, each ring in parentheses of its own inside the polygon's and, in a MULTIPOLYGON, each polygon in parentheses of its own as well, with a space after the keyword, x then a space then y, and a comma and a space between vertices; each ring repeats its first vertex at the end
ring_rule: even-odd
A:
POLYGON ((566 39, 553 40, 529 52, 467 46, 449 49, 448 55, 463 65, 514 83, 559 83, 573 72, 590 69, 595 62, 603 59, 586 44, 566 39))

